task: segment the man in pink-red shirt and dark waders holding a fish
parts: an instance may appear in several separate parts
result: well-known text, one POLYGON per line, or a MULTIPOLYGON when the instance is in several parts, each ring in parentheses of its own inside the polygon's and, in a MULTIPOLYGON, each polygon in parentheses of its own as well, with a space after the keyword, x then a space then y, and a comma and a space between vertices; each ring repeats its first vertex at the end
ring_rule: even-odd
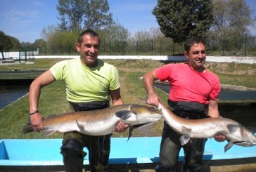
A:
MULTIPOLYGON (((148 93, 147 103, 158 106, 160 98, 154 91, 153 81, 167 80, 171 88, 168 105, 174 114, 189 119, 220 117, 217 104, 220 92, 219 78, 204 67, 205 42, 194 37, 185 42, 184 49, 187 62, 164 65, 144 75, 144 87, 148 93)), ((184 148, 185 154, 184 171, 200 171, 206 140, 191 138, 186 145, 181 146, 180 136, 164 122, 160 161, 155 168, 156 171, 176 171, 181 147, 184 148)), ((225 137, 217 135, 215 140, 221 142, 225 137)))

